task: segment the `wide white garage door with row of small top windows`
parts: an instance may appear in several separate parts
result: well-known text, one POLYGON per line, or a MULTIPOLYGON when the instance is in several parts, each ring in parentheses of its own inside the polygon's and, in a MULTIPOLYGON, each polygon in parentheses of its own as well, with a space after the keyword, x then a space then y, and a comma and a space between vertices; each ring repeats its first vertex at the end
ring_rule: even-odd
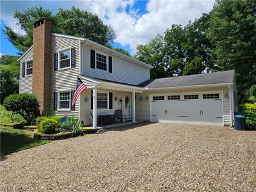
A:
POLYGON ((151 95, 152 122, 223 125, 220 92, 151 95))

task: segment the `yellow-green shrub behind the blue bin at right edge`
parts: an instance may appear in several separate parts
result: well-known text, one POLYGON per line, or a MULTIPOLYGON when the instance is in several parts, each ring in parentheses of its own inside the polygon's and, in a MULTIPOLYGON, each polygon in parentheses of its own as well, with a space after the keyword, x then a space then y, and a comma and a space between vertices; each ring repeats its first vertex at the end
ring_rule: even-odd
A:
POLYGON ((246 128, 256 129, 256 104, 241 104, 239 112, 246 116, 246 128))

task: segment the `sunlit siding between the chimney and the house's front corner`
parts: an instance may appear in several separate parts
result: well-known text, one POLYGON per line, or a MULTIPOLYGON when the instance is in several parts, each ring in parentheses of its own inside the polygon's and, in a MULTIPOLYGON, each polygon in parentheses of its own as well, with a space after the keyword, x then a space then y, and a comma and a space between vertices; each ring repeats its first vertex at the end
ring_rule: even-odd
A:
MULTIPOLYGON (((52 115, 62 116, 66 113, 68 115, 74 115, 77 118, 79 117, 79 99, 76 101, 76 108, 74 111, 66 110, 54 110, 53 109, 53 95, 54 92, 61 90, 75 90, 77 75, 79 75, 79 40, 74 40, 71 38, 65 38, 60 36, 52 35, 52 79, 51 79, 51 113, 52 115), (76 67, 74 68, 65 68, 61 70, 54 70, 54 53, 58 51, 65 51, 72 47, 76 47, 76 67)), ((60 58, 60 56, 59 56, 60 58)), ((59 62, 60 63, 60 62, 59 62)), ((59 108, 59 101, 58 101, 59 108)))

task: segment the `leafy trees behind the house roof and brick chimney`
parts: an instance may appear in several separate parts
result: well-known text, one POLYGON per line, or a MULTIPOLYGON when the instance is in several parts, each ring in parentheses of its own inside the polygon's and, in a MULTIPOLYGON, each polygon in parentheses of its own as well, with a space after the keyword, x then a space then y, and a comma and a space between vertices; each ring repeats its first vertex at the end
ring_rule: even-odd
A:
POLYGON ((42 6, 32 7, 24 12, 16 11, 13 17, 18 20, 17 24, 26 32, 26 35, 15 33, 10 26, 5 26, 3 32, 20 53, 28 50, 33 44, 33 23, 43 17, 52 20, 54 33, 89 38, 108 47, 115 39, 115 31, 111 26, 103 24, 97 15, 79 10, 74 6, 71 10, 60 9, 56 15, 52 15, 49 10, 44 10, 42 6))

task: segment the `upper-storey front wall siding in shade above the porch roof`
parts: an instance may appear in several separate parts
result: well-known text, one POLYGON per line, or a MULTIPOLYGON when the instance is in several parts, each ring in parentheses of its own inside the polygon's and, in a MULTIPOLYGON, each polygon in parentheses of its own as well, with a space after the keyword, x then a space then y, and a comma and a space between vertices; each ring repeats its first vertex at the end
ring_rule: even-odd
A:
POLYGON ((109 55, 112 57, 112 73, 109 73, 108 70, 98 70, 96 66, 95 68, 91 68, 91 49, 95 50, 95 54, 97 53, 97 49, 95 49, 94 47, 90 47, 88 45, 83 46, 84 54, 82 74, 84 74, 84 76, 107 79, 110 81, 117 81, 128 84, 140 84, 143 81, 150 79, 150 70, 148 68, 141 67, 140 65, 136 65, 134 63, 122 60, 121 58, 112 55, 109 55))

